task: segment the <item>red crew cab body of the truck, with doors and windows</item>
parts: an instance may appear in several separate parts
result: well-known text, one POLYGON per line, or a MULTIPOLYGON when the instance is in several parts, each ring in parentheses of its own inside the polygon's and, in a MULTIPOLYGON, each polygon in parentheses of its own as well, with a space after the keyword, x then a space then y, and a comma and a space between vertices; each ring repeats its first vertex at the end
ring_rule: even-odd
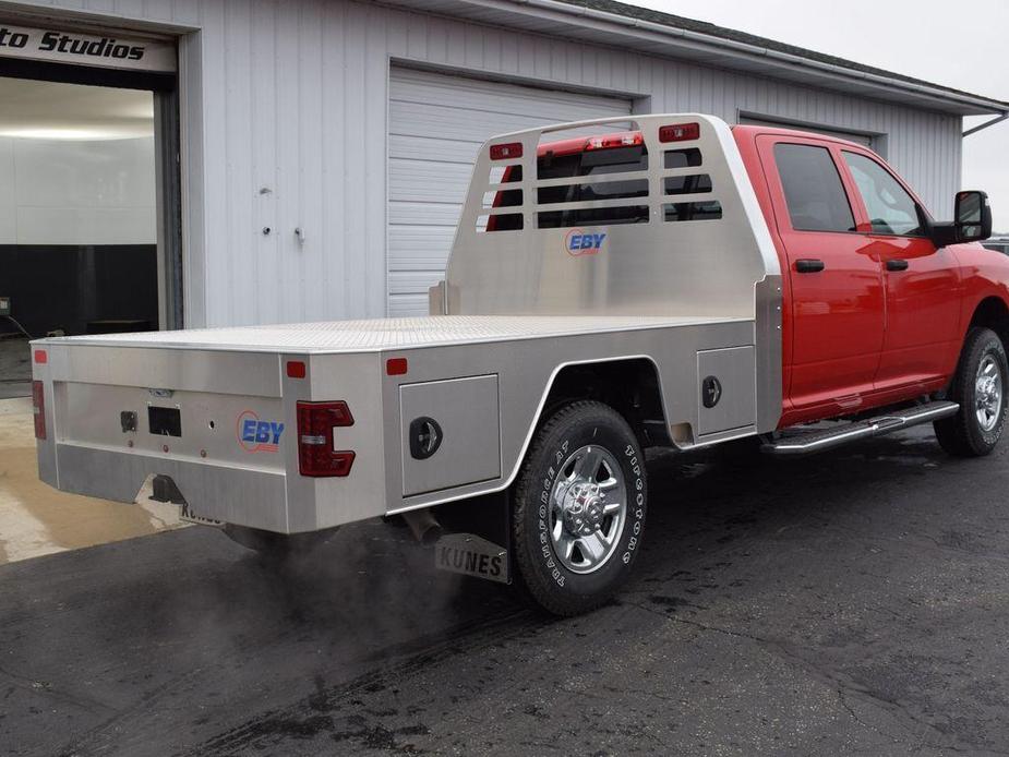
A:
POLYGON ((913 190, 852 142, 733 136, 781 261, 781 428, 944 390, 972 322, 1005 334, 1009 259, 944 243, 913 190))

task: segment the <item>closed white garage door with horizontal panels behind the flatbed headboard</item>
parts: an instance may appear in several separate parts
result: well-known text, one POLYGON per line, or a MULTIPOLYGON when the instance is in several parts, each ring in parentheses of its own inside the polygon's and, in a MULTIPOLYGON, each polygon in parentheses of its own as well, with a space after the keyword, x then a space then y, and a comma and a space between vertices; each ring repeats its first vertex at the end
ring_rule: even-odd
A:
POLYGON ((389 82, 388 312, 428 312, 477 149, 517 129, 626 116, 629 100, 394 68, 389 82))

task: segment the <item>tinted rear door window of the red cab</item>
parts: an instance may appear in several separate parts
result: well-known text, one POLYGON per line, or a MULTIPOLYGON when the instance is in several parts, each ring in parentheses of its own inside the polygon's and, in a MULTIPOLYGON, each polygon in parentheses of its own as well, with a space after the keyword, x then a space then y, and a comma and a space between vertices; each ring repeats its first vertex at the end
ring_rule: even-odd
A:
POLYGON ((774 163, 796 231, 854 231, 855 218, 830 151, 779 143, 774 163))

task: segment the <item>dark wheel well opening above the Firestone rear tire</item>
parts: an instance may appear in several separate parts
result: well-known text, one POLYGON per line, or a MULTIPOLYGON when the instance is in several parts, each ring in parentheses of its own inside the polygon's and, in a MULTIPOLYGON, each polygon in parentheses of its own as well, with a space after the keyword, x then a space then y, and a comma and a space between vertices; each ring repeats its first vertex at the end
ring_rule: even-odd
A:
POLYGON ((630 424, 642 447, 672 446, 659 371, 647 358, 565 365, 554 377, 539 422, 578 399, 605 402, 630 424))

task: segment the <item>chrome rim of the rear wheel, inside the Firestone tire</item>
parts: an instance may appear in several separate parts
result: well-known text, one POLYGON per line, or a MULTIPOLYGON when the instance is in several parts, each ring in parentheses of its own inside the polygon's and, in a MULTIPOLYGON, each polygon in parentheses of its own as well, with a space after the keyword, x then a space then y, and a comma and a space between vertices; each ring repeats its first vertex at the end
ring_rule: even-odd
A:
POLYGON ((573 573, 602 567, 627 519, 627 486, 616 457, 598 445, 572 453, 551 491, 550 533, 557 560, 573 573))

